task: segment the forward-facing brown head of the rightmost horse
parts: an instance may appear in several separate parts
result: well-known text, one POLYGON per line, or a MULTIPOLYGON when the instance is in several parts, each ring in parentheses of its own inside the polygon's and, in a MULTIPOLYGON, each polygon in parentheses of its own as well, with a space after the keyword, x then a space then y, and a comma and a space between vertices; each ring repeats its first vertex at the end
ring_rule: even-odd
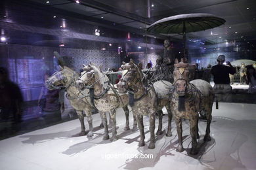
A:
POLYGON ((179 96, 184 96, 188 84, 189 69, 186 58, 182 58, 181 62, 175 59, 173 71, 174 87, 179 96))

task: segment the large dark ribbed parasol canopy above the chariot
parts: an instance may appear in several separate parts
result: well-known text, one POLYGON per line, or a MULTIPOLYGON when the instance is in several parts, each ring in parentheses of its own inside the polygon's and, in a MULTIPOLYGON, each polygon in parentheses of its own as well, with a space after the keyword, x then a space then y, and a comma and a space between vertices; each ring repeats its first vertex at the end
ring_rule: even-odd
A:
POLYGON ((219 27, 226 21, 213 14, 181 14, 169 16, 150 25, 148 33, 190 33, 219 27))

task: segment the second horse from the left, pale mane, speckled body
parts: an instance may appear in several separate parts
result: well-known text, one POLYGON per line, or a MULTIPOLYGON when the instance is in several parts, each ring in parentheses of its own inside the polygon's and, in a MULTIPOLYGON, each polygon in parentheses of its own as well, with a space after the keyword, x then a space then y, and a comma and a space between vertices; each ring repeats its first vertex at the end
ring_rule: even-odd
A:
MULTIPOLYGON (((83 67, 84 72, 76 81, 77 86, 80 90, 89 88, 93 90, 94 104, 96 109, 99 110, 104 126, 104 140, 109 139, 108 125, 106 124, 106 114, 104 112, 110 112, 110 118, 113 123, 111 141, 116 141, 116 109, 122 107, 125 111, 126 124, 125 130, 129 130, 129 109, 128 95, 118 93, 114 86, 110 85, 108 76, 96 67, 94 64, 85 65, 83 67)), ((137 122, 134 116, 133 131, 137 130, 137 122)))

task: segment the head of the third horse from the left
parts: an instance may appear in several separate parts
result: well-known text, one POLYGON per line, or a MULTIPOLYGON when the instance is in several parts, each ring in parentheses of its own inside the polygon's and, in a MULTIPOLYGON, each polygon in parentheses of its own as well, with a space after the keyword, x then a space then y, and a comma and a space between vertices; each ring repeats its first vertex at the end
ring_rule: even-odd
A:
POLYGON ((119 92, 125 93, 127 90, 137 92, 143 78, 141 71, 142 64, 139 63, 137 65, 133 59, 131 59, 129 63, 123 62, 121 69, 123 70, 123 75, 117 84, 117 89, 119 92))

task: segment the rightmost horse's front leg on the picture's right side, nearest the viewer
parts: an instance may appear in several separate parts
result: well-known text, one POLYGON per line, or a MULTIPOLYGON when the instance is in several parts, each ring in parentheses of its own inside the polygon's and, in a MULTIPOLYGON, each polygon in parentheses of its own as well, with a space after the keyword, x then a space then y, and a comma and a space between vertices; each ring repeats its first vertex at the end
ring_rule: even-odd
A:
POLYGON ((198 134, 198 117, 190 118, 189 124, 190 124, 190 135, 192 137, 192 148, 190 150, 190 154, 196 155, 198 154, 198 151, 196 150, 196 147, 198 146, 198 141, 196 141, 196 137, 198 134))

